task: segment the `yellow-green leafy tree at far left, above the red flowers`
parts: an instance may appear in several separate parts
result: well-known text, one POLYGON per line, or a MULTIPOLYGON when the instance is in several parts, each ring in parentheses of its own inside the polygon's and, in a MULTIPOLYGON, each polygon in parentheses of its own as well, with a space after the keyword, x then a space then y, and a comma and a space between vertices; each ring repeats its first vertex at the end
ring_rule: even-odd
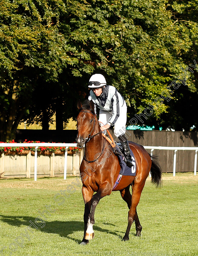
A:
POLYGON ((38 82, 57 82, 58 74, 72 62, 72 57, 63 51, 66 41, 57 29, 59 12, 66 9, 59 0, 1 2, 1 140, 15 137, 22 117, 34 104, 32 95, 36 88, 40 93, 38 82))

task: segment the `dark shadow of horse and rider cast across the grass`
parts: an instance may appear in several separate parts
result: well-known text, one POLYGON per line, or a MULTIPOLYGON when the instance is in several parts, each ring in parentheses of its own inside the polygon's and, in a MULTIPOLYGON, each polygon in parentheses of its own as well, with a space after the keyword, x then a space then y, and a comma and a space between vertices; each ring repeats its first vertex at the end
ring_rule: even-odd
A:
MULTIPOLYGON (((35 224, 35 217, 27 217, 27 216, 4 216, 0 215, 0 221, 6 222, 9 225, 12 226, 29 226, 30 221, 32 221, 35 224)), ((106 223, 106 225, 115 226, 110 223, 106 223)), ((36 225, 37 226, 37 225, 36 225)), ((33 228, 33 226, 31 226, 33 228)), ((24 228, 25 229, 25 228, 24 228)), ((33 228, 36 229, 36 228, 33 228)), ((75 242, 81 243, 82 239, 74 239, 70 235, 76 231, 84 231, 84 222, 82 221, 45 221, 45 226, 41 228, 38 226, 38 229, 40 231, 43 231, 45 233, 53 233, 53 234, 59 234, 62 237, 67 237, 68 239, 74 240, 75 242)), ((96 225, 94 225, 94 230, 109 233, 115 236, 119 236, 118 233, 120 231, 110 231, 108 229, 102 229, 96 225)))

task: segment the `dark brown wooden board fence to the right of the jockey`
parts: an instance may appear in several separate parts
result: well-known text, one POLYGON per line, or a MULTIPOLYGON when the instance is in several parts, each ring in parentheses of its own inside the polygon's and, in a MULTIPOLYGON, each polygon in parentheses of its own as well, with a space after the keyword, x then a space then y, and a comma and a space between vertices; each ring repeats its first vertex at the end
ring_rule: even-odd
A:
MULTIPOLYGON (((113 138, 115 138, 113 130, 111 130, 111 134, 113 138)), ((135 143, 144 146, 198 146, 198 133, 195 132, 127 130, 126 135, 129 141, 134 141, 135 143)), ((151 153, 149 149, 147 151, 148 153, 151 153)), ((158 161, 162 166, 162 172, 173 172, 174 150, 154 150, 153 154, 158 155, 158 161)), ((176 154, 176 172, 193 172, 195 151, 178 150, 176 154)))

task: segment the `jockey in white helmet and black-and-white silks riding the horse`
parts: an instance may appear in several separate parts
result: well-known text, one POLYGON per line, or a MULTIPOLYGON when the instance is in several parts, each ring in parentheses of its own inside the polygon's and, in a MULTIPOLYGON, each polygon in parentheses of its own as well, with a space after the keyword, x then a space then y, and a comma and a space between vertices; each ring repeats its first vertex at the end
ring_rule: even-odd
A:
POLYGON ((127 160, 127 166, 132 167, 130 148, 125 136, 127 123, 127 105, 123 96, 114 86, 106 85, 106 79, 102 74, 94 74, 89 79, 88 99, 92 100, 96 107, 100 109, 99 122, 100 130, 107 130, 114 126, 114 134, 123 144, 123 154, 127 160))

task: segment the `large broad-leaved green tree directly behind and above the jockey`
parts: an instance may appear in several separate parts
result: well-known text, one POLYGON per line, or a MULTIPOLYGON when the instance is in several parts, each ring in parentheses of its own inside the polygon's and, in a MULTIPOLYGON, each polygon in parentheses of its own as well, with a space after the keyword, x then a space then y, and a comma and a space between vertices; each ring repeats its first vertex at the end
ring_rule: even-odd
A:
MULTIPOLYGON (((193 10, 195 2, 188 4, 186 13, 193 10)), ((86 87, 91 73, 103 73, 124 95, 130 118, 143 112, 177 79, 181 67, 186 67, 192 44, 196 44, 196 33, 186 26, 190 23, 181 27, 175 22, 175 9, 169 1, 87 1, 75 10, 60 23, 64 34, 70 21, 70 54, 78 59, 67 68, 68 76, 82 77, 81 84, 86 87)), ((190 15, 196 32, 195 17, 190 15)), ((191 89, 195 89, 194 75, 188 79, 187 90, 191 89)), ((144 125, 175 126, 176 120, 171 122, 169 114, 178 104, 179 92, 172 94, 171 102, 164 101, 144 125)))

